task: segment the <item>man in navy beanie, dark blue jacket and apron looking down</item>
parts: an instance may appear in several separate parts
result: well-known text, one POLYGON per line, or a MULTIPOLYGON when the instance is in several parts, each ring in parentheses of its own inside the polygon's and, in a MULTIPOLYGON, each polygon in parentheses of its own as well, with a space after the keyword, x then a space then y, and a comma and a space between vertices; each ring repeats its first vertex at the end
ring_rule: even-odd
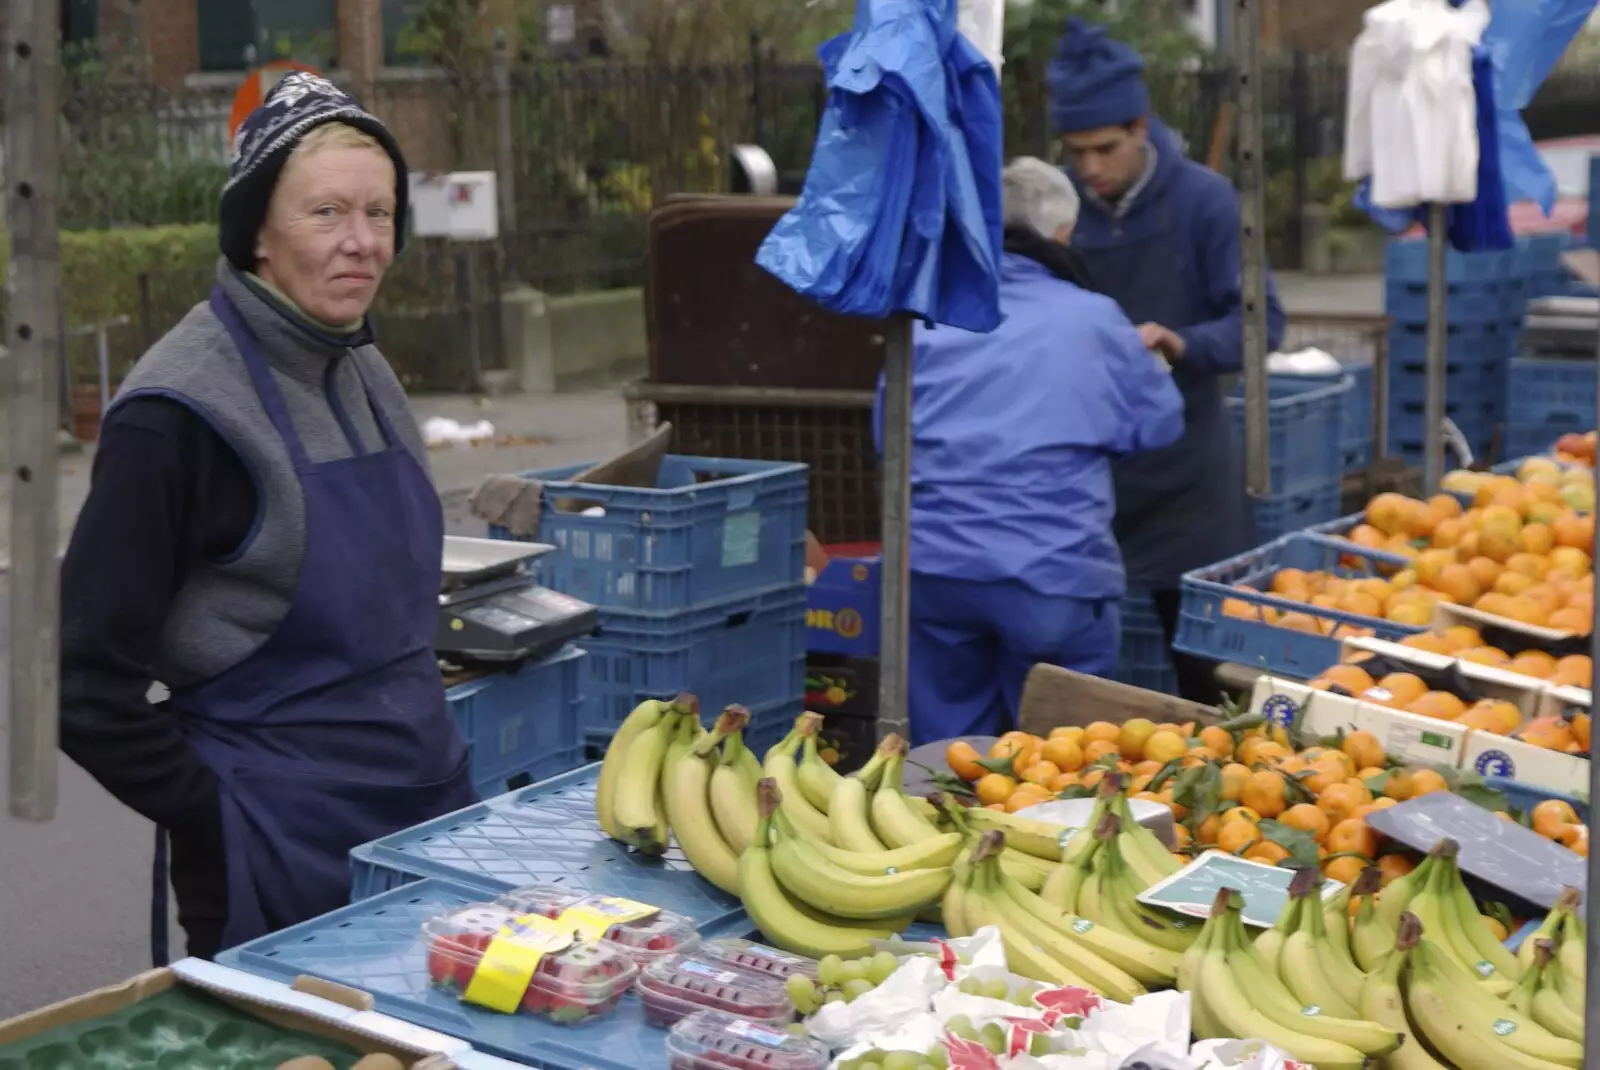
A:
MULTIPOLYGON (((1072 235, 1088 283, 1138 325, 1173 366, 1184 435, 1115 465, 1117 542, 1128 582, 1147 590, 1166 646, 1178 632, 1181 577, 1250 549, 1243 448, 1224 409, 1243 365, 1238 194, 1184 157, 1150 115, 1138 53, 1069 19, 1048 67, 1051 120, 1083 197, 1072 235)), ((1267 278, 1267 349, 1283 339, 1283 309, 1267 278)), ((1173 654, 1179 693, 1213 704, 1211 665, 1173 654)))

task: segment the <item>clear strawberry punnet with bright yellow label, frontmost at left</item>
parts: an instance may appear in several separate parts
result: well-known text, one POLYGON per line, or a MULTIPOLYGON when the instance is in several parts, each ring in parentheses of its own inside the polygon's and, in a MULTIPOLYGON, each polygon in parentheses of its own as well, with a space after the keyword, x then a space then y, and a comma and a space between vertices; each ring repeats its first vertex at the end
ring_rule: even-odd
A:
POLYGON ((477 1006, 574 1024, 611 1011, 638 968, 602 940, 574 940, 542 916, 475 904, 422 924, 429 980, 477 1006), (488 960, 491 969, 480 971, 488 960))

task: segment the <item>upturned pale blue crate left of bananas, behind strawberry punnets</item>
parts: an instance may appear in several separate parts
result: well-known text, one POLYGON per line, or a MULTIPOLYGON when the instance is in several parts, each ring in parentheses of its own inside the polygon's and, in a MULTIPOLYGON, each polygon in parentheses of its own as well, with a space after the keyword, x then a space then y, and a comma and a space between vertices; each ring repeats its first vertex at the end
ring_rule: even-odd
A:
POLYGON ((563 884, 653 897, 650 902, 659 907, 693 916, 714 915, 736 902, 701 880, 677 848, 650 859, 606 836, 595 820, 598 777, 600 766, 587 765, 363 843, 350 851, 350 902, 424 876, 486 896, 523 884, 563 884))

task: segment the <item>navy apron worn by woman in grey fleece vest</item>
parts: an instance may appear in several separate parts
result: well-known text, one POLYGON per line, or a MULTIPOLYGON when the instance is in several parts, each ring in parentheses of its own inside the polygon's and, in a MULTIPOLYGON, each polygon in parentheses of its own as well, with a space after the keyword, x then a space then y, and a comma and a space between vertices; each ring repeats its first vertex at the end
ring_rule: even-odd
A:
POLYGON ((221 781, 234 947, 344 905, 350 848, 478 795, 434 656, 445 526, 432 481, 370 392, 384 449, 312 462, 221 288, 211 310, 306 497, 288 616, 254 654, 170 701, 221 781))

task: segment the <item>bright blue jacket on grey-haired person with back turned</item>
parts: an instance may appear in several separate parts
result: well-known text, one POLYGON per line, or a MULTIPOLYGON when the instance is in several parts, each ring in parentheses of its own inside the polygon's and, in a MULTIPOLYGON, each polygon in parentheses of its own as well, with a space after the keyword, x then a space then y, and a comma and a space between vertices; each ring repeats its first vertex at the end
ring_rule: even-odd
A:
MULTIPOLYGON (((1117 305, 1006 253, 989 334, 915 328, 910 568, 1120 598, 1110 459, 1182 433, 1182 398, 1117 305)), ((883 381, 874 424, 883 448, 883 381)))

